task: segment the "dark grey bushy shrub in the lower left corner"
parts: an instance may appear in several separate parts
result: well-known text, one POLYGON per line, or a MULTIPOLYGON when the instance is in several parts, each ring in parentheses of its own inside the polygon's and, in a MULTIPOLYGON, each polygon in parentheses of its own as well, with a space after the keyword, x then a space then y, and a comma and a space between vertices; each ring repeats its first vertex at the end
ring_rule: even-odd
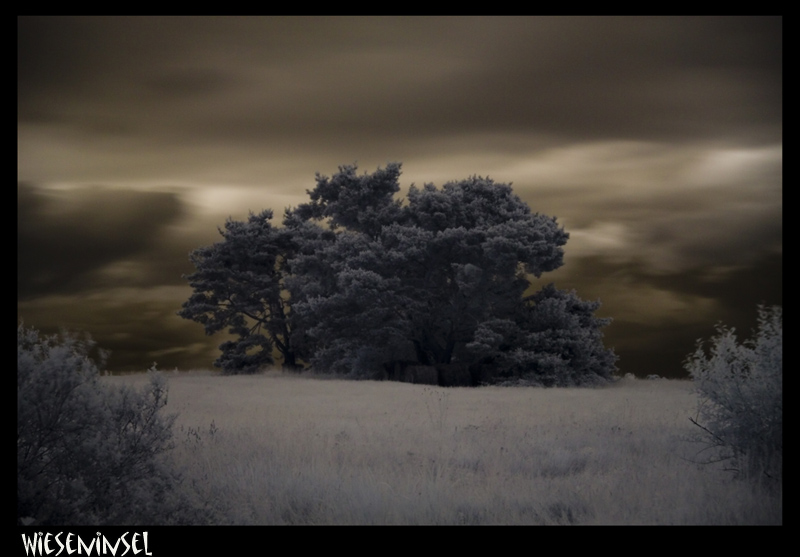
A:
MULTIPOLYGON (((17 328, 17 519, 25 524, 197 520, 164 460, 175 416, 160 374, 141 391, 99 381, 94 343, 17 328)), ((101 353, 101 358, 103 354, 101 353)))

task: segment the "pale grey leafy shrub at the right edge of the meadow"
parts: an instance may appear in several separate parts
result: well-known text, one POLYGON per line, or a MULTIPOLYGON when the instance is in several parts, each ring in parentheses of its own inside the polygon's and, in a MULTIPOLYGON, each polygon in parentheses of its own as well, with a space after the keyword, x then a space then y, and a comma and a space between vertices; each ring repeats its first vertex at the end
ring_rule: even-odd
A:
POLYGON ((686 360, 700 395, 700 439, 714 450, 708 460, 726 461, 750 478, 782 478, 783 320, 780 306, 758 309, 755 337, 738 344, 722 325, 706 355, 702 341, 686 360))

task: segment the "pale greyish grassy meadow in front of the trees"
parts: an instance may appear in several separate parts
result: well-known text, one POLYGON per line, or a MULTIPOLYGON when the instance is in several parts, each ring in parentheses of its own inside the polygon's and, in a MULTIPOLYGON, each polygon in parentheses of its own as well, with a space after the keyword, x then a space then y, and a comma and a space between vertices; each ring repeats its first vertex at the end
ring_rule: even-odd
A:
POLYGON ((168 376, 172 458, 219 524, 782 523, 779 491, 693 462, 689 381, 168 376))

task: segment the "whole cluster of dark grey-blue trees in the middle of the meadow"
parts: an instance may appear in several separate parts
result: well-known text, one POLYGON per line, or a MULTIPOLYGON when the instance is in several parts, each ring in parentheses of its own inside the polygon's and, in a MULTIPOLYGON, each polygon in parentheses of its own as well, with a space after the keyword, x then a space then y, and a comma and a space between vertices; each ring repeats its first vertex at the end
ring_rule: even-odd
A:
POLYGON ((409 367, 437 370, 440 384, 611 376, 598 302, 552 285, 527 294, 530 277, 563 264, 569 235, 555 218, 479 176, 398 199, 399 176, 399 164, 318 174, 282 227, 271 211, 229 219, 221 242, 191 254, 194 293, 179 315, 238 336, 217 366, 252 373, 276 350, 289 367, 357 378, 409 367))

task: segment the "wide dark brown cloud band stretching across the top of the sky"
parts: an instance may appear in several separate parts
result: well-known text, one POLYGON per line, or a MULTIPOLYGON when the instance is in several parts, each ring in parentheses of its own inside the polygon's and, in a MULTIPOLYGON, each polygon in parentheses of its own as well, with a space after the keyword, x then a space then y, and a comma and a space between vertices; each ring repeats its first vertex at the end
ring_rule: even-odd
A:
POLYGON ((135 120, 145 136, 163 133, 166 119, 170 133, 199 127, 208 141, 280 137, 318 149, 365 134, 399 146, 498 131, 773 141, 781 26, 781 18, 22 18, 19 114, 49 112, 75 127, 135 120), (198 110, 173 104, 187 96, 198 110))

